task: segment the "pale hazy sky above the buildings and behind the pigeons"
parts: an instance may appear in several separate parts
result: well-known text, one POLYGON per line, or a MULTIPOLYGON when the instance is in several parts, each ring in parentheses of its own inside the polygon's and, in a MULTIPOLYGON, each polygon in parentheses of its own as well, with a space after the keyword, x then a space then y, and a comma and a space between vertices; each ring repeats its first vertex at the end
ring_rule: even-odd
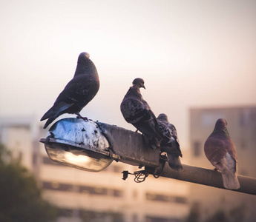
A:
POLYGON ((81 114, 134 129, 134 78, 188 145, 188 108, 256 104, 256 1, 0 1, 0 115, 42 115, 90 53, 100 89, 81 114))

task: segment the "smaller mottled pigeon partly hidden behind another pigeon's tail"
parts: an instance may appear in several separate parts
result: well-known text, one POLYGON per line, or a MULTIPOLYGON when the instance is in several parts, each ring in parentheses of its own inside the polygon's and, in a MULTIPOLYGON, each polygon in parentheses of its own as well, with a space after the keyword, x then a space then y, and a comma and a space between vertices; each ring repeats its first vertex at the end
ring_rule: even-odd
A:
POLYGON ((161 141, 161 152, 166 152, 168 157, 168 164, 171 169, 177 171, 182 171, 183 166, 180 162, 179 157, 183 157, 180 150, 180 141, 177 136, 177 130, 173 124, 170 124, 168 121, 167 115, 161 113, 157 117, 158 125, 165 135, 168 138, 168 141, 161 141))

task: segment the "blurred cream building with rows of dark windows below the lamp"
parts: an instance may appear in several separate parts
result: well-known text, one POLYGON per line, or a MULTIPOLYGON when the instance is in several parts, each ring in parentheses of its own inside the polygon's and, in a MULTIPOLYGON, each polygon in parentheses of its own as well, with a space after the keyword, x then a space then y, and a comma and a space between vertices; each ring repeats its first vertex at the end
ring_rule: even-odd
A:
POLYGON ((123 181, 123 170, 140 169, 122 163, 102 172, 56 164, 39 143, 46 133, 35 118, 0 118, 0 143, 35 173, 45 198, 59 206, 59 222, 171 222, 188 214, 188 183, 151 175, 141 184, 134 182, 134 175, 123 181))

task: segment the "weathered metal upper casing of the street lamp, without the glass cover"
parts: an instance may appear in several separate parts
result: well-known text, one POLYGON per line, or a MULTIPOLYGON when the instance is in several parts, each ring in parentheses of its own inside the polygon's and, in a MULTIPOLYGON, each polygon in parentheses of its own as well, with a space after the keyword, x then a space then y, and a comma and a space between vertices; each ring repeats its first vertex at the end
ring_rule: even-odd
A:
POLYGON ((135 166, 159 166, 160 151, 147 147, 140 133, 110 124, 64 118, 53 124, 47 138, 40 141, 88 149, 135 166))

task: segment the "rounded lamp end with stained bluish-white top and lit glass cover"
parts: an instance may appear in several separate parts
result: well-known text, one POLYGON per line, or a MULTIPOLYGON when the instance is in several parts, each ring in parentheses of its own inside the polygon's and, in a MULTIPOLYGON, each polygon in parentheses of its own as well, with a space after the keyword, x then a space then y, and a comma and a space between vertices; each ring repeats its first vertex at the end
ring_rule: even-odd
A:
POLYGON ((108 152, 110 145, 93 121, 62 119, 40 141, 51 160, 76 169, 99 172, 113 161, 108 152))

